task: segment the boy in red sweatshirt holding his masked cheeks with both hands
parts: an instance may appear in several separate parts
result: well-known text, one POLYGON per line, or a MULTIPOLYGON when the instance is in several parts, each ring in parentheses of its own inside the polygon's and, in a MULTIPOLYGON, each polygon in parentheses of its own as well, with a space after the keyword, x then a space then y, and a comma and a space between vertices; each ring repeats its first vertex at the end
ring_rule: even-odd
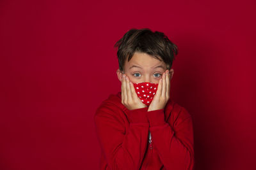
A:
POLYGON ((191 115, 170 99, 177 46, 150 29, 131 29, 115 46, 122 92, 95 113, 100 169, 193 169, 191 115))

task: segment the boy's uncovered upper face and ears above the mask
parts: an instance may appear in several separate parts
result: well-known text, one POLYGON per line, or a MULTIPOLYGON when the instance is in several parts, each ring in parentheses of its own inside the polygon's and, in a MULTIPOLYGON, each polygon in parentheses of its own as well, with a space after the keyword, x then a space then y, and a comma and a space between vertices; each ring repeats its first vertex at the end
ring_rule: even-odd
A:
MULTIPOLYGON (((135 52, 129 62, 128 59, 126 59, 124 74, 129 77, 129 80, 132 81, 132 83, 158 83, 166 69, 167 66, 163 61, 157 60, 147 53, 135 52)), ((118 79, 122 81, 122 73, 120 72, 120 69, 118 69, 116 73, 118 79)), ((173 69, 170 69, 170 74, 170 78, 172 78, 173 69)))

